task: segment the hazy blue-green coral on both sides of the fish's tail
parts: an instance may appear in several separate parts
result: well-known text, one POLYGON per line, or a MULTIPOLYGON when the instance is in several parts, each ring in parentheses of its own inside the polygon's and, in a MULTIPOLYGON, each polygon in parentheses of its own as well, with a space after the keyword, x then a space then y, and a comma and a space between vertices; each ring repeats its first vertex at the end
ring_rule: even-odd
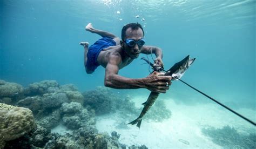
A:
MULTIPOLYGON (((83 96, 84 106, 89 105, 97 115, 117 112, 120 117, 125 119, 136 117, 142 111, 135 107, 129 96, 121 98, 107 87, 97 87, 96 90, 84 92, 83 96)), ((163 121, 170 117, 171 111, 166 109, 164 101, 157 100, 146 114, 145 119, 163 121)))

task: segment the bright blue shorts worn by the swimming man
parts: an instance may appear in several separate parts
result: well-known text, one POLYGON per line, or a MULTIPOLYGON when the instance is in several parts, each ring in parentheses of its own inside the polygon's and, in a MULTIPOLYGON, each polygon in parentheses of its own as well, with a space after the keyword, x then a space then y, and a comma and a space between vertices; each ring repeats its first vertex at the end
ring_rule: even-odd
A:
POLYGON ((99 64, 97 63, 99 52, 109 46, 114 45, 116 45, 116 42, 114 42, 114 40, 109 37, 104 37, 97 40, 97 42, 89 47, 89 50, 87 52, 86 68, 92 72, 95 71, 95 69, 99 66, 99 64))

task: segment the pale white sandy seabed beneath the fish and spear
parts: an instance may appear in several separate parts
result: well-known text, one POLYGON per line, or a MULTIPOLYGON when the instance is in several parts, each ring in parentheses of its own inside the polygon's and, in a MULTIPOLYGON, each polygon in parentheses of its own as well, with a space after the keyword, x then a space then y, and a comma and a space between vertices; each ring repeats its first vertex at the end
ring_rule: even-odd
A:
MULTIPOLYGON (((137 107, 142 107, 145 99, 147 97, 142 96, 132 100, 137 107)), ((123 119, 113 113, 97 117, 96 127, 99 132, 110 134, 116 131, 123 144, 146 145, 149 148, 223 148, 201 133, 201 129, 207 126, 222 128, 228 125, 238 132, 256 132, 253 125, 215 103, 188 106, 176 104, 172 99, 164 101, 172 112, 170 119, 158 123, 143 120, 139 129, 136 125, 126 125, 133 119, 123 119)), ((238 112, 246 115, 255 113, 250 109, 239 109, 238 112)))

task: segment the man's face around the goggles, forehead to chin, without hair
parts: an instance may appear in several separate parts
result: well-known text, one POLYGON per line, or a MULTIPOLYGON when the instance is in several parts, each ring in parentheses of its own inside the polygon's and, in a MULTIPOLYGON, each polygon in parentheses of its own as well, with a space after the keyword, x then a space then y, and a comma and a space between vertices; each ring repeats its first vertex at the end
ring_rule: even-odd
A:
MULTIPOLYGON (((143 31, 142 29, 138 29, 138 30, 132 30, 131 28, 128 28, 126 30, 126 39, 134 39, 136 42, 138 42, 139 39, 143 38, 143 31)), ((127 53, 127 55, 129 55, 131 58, 138 58, 139 57, 139 53, 142 49, 142 46, 139 46, 138 44, 135 44, 134 46, 129 46, 125 43, 124 40, 124 50, 127 53)))

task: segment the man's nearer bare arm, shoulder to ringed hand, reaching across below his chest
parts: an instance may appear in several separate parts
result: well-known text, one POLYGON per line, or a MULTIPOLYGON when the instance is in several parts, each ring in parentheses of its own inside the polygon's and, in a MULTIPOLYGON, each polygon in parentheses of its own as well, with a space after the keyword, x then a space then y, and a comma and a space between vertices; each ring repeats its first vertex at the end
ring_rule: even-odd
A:
POLYGON ((165 93, 169 89, 166 82, 171 85, 170 76, 159 76, 160 73, 154 72, 146 78, 132 79, 118 75, 118 65, 122 63, 122 59, 118 55, 110 56, 109 63, 105 70, 104 85, 114 89, 139 89, 146 88, 153 92, 165 93))

